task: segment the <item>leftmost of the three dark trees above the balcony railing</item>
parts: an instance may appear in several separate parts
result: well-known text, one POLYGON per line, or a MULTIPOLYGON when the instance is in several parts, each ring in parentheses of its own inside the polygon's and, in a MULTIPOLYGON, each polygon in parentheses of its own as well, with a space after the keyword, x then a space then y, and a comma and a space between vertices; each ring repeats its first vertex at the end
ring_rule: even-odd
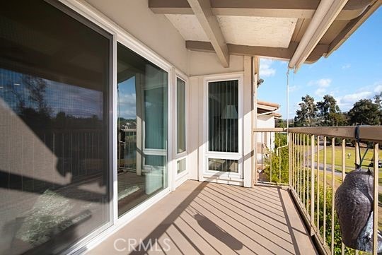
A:
POLYGON ((310 95, 301 97, 302 102, 299 103, 300 109, 296 110, 294 117, 296 126, 314 126, 316 124, 317 107, 314 98, 310 95))

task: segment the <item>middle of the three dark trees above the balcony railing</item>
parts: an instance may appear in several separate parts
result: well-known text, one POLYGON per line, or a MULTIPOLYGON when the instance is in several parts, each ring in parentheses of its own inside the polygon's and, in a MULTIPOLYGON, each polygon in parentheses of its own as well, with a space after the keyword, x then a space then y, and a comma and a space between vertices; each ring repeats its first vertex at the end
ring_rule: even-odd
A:
POLYGON ((346 122, 332 95, 325 95, 323 101, 317 102, 317 109, 322 126, 342 126, 346 122))

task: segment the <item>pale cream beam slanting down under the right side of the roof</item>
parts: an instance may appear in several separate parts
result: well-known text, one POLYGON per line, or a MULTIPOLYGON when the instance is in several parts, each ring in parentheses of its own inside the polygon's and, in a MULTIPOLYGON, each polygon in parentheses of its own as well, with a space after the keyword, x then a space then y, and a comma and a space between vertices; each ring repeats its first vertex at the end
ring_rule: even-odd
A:
POLYGON ((325 32, 332 25, 348 0, 321 0, 316 12, 303 34, 299 46, 289 61, 289 69, 294 73, 299 70, 301 64, 306 61, 313 49, 318 45, 325 32))

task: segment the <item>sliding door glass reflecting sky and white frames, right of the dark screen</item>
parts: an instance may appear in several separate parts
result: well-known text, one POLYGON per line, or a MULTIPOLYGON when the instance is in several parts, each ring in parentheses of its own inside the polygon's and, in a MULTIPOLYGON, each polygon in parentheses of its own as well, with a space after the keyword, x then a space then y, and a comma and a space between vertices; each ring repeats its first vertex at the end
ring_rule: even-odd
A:
POLYGON ((168 186, 168 73, 117 46, 118 215, 168 186))

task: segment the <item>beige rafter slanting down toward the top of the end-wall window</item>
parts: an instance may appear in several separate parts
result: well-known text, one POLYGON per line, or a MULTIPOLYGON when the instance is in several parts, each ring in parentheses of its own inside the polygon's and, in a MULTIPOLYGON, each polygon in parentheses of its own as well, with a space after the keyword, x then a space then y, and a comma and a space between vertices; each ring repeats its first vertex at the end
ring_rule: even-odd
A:
POLYGON ((216 16, 212 13, 209 0, 188 0, 193 13, 197 17, 207 37, 211 41, 211 45, 216 52, 217 57, 224 67, 229 66, 229 54, 226 40, 216 20, 216 16))

